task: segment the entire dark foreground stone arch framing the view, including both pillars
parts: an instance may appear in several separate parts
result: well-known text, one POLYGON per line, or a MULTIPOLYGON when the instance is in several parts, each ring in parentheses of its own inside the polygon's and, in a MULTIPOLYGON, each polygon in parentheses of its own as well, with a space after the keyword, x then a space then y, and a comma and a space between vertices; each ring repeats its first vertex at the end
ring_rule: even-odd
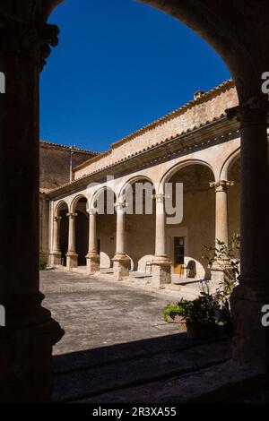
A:
MULTIPOLYGON (((9 320, 6 331, 13 338, 4 340, 1 347, 5 364, 1 370, 0 395, 4 401, 51 398, 51 347, 63 335, 41 306, 38 261, 39 72, 49 56, 49 45, 55 47, 57 43, 58 30, 46 21, 60 3, 61 0, 23 4, 4 1, 1 6, 0 58, 6 93, 0 97, 3 139, 0 217, 3 221, 16 221, 4 230, 0 246, 2 272, 8 276, 1 283, 0 301, 9 320), (14 189, 16 194, 10 194, 14 189), (13 250, 16 265, 12 253, 6 250, 13 250), (18 349, 15 361, 14 347, 18 349), (16 376, 14 365, 18 367, 16 376)), ((225 7, 223 2, 212 0, 143 0, 143 3, 159 7, 195 30, 219 53, 234 76, 239 107, 230 110, 228 116, 239 118, 242 136, 241 285, 232 303, 237 322, 234 358, 268 374, 269 333, 261 324, 261 308, 269 302, 268 195, 265 195, 269 190, 268 101, 261 91, 261 76, 269 69, 269 4, 267 0, 227 0, 225 7), (257 206, 260 202, 263 206, 257 206)))

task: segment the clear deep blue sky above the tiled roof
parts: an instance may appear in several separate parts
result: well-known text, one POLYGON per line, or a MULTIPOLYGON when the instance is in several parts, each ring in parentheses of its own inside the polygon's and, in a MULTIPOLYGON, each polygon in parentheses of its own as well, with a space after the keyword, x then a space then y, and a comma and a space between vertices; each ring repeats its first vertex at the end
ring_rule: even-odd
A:
POLYGON ((230 78, 211 47, 134 0, 66 0, 41 74, 40 138, 103 151, 230 78))

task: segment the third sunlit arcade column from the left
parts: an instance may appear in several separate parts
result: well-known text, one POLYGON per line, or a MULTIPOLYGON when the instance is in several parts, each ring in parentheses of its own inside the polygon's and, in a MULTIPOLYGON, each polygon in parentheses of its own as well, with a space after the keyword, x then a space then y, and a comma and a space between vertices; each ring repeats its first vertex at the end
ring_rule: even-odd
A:
POLYGON ((96 209, 89 212, 89 252, 86 255, 87 273, 100 271, 100 254, 98 253, 97 233, 96 233, 96 209))

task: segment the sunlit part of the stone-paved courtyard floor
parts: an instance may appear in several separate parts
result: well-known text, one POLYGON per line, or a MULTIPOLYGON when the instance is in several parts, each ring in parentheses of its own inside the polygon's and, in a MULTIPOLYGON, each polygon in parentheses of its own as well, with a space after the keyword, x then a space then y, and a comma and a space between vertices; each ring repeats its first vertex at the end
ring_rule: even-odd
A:
POLYGON ((144 291, 105 277, 96 279, 68 271, 41 271, 44 305, 65 329, 54 354, 178 333, 178 324, 163 321, 174 292, 144 291))

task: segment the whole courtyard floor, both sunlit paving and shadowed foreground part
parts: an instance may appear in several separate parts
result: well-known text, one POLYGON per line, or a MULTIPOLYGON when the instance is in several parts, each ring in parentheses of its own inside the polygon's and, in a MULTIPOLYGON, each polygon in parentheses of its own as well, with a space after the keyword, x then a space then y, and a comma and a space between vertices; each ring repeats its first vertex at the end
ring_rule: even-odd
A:
POLYGON ((230 338, 188 339, 178 324, 163 321, 178 291, 61 270, 41 271, 40 281, 45 306, 65 329, 54 348, 55 401, 186 400, 182 384, 194 386, 206 367, 230 360, 230 338))

